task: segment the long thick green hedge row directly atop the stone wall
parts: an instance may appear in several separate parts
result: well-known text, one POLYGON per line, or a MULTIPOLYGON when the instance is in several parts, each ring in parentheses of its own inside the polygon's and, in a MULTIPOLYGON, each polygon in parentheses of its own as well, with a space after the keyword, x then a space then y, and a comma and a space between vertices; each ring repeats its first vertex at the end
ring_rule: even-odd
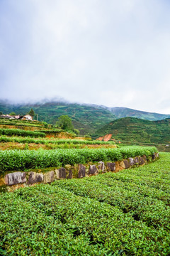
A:
POLYGON ((85 164, 96 161, 118 161, 134 156, 151 156, 157 149, 145 146, 125 146, 120 149, 55 149, 0 151, 0 170, 47 168, 65 164, 85 164))

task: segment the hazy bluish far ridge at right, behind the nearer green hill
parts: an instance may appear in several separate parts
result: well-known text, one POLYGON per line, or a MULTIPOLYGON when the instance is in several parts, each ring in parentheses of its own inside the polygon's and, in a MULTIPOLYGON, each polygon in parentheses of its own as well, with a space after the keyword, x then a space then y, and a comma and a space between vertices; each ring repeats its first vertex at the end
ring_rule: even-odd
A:
POLYGON ((115 115, 115 117, 117 117, 117 119, 123 118, 123 117, 137 117, 140 119, 156 121, 156 120, 162 120, 165 118, 170 118, 170 114, 158 114, 158 113, 145 112, 140 110, 132 110, 127 107, 110 107, 107 109, 111 111, 115 115))

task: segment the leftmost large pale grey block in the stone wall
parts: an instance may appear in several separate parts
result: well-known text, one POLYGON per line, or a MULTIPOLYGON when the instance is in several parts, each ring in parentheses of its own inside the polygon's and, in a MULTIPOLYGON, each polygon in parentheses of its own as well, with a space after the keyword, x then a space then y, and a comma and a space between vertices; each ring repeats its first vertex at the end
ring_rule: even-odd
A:
POLYGON ((5 176, 6 185, 16 185, 18 183, 26 182, 26 172, 16 171, 11 174, 6 174, 5 176))

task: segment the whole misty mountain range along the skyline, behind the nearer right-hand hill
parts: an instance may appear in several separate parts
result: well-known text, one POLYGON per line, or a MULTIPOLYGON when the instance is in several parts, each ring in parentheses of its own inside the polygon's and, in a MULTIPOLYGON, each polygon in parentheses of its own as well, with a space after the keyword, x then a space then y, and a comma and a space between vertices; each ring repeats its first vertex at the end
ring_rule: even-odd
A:
MULTIPOLYGON (((14 105, 0 100, 0 112, 9 114, 26 114, 33 108, 38 114, 39 121, 55 124, 60 115, 67 114, 72 118, 74 127, 79 129, 80 134, 96 134, 96 130, 103 130, 105 124, 122 117, 138 117, 140 119, 160 120, 170 117, 170 114, 157 114, 131 110, 126 107, 106 107, 100 105, 77 104, 69 102, 51 101, 36 102, 30 104, 14 105)), ((110 124, 109 124, 110 125, 110 124)), ((106 126, 107 127, 107 126, 106 126)), ((103 134, 103 133, 102 133, 103 134)))

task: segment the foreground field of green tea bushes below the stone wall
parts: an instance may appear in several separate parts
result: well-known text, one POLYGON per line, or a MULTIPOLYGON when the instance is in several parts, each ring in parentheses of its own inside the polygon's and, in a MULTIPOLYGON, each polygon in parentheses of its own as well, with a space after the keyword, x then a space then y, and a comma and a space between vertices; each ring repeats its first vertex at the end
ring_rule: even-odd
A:
POLYGON ((0 197, 0 255, 170 255, 170 154, 0 197))

